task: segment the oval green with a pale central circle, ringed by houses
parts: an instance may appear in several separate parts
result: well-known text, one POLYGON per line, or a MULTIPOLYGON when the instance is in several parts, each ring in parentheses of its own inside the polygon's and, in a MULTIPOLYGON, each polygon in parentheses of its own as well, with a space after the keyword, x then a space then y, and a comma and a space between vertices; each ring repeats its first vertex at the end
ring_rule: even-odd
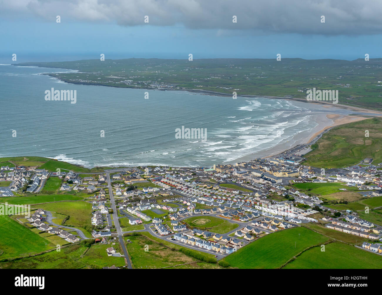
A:
POLYGON ((217 234, 225 234, 226 232, 230 232, 239 226, 237 223, 229 222, 214 216, 194 216, 183 221, 187 222, 190 226, 198 229, 208 229, 209 231, 216 232, 217 234))

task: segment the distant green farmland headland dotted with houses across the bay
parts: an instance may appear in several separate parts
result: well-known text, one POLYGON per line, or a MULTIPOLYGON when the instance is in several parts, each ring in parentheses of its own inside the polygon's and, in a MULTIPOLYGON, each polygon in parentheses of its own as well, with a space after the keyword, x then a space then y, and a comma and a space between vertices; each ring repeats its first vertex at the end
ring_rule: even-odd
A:
POLYGON ((80 60, 18 65, 78 70, 76 73, 47 74, 72 84, 142 89, 144 88, 142 81, 147 82, 147 86, 149 86, 148 81, 161 81, 179 88, 227 93, 230 96, 232 89, 240 87, 238 95, 291 97, 305 102, 305 90, 308 88, 340 88, 339 104, 382 109, 379 97, 382 90, 378 87, 376 78, 382 75, 381 58, 370 59, 367 63, 362 58, 353 61, 301 58, 283 58, 282 61, 246 58, 193 61, 188 61, 186 58, 184 60, 128 58, 105 60, 102 63, 99 63, 99 60, 80 60), (155 71, 153 67, 160 71, 155 71), (211 79, 212 76, 219 79, 211 79), (131 79, 131 83, 121 82, 123 79, 131 79), (341 79, 340 85, 338 79, 341 79), (194 80, 198 81, 197 84, 193 82, 194 80), (345 84, 349 87, 342 87, 345 84))

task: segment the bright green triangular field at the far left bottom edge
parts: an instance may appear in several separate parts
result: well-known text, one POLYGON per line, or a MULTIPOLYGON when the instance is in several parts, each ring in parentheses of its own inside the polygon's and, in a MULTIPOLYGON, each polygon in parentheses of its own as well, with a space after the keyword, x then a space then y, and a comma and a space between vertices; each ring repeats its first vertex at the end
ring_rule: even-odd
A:
POLYGON ((47 240, 17 221, 0 215, 0 259, 39 253, 54 247, 49 244, 47 240))

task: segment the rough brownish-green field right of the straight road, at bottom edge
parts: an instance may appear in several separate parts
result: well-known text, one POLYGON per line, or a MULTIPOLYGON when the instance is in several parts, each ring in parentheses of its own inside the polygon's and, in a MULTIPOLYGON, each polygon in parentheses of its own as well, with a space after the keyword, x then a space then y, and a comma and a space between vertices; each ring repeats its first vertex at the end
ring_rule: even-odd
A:
POLYGON ((220 268, 218 264, 197 263, 195 258, 180 251, 172 251, 164 244, 160 245, 159 242, 149 239, 146 235, 125 237, 125 241, 128 239, 131 243, 126 243, 126 248, 134 268, 163 268, 168 266, 175 268, 220 268), (177 266, 184 263, 191 264, 177 266))

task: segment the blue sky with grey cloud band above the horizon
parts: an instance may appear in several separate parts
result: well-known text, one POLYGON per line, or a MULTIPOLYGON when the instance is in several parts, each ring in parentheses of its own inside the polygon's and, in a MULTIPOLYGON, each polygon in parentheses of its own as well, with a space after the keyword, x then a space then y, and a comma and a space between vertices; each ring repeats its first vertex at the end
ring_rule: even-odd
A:
POLYGON ((14 63, 13 53, 17 62, 101 53, 106 59, 382 57, 379 0, 0 0, 0 7, 0 63, 14 63))

